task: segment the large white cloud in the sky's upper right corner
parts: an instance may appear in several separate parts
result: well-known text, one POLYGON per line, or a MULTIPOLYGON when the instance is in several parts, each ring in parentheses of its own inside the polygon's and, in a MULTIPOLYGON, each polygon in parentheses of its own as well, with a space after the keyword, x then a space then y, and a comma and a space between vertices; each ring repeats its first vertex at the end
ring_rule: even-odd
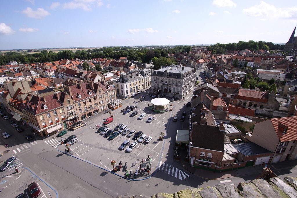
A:
POLYGON ((261 18, 295 18, 297 7, 276 8, 272 4, 261 1, 260 4, 243 9, 242 12, 249 16, 261 18))

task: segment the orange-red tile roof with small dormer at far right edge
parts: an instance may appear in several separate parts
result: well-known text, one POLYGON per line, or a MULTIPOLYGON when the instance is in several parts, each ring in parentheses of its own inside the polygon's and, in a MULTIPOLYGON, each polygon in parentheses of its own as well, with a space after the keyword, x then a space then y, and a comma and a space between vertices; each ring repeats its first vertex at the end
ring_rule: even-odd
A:
POLYGON ((270 119, 270 121, 281 142, 297 140, 297 116, 285 118, 272 118, 270 119), (280 129, 279 125, 287 126, 287 132, 283 133, 283 129, 280 129))

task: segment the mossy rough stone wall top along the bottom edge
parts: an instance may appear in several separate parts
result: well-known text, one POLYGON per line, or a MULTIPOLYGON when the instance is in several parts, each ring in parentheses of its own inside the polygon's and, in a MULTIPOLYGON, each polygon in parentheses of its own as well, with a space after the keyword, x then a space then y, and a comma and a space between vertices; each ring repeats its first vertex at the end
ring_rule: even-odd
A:
MULTIPOLYGON (((218 184, 215 187, 201 189, 184 189, 173 194, 158 193, 151 198, 240 198, 240 197, 297 197, 297 178, 286 177, 285 179, 270 178, 252 180, 249 183, 241 182, 237 188, 230 184, 218 184)), ((123 195, 118 198, 149 198, 146 195, 123 195)))

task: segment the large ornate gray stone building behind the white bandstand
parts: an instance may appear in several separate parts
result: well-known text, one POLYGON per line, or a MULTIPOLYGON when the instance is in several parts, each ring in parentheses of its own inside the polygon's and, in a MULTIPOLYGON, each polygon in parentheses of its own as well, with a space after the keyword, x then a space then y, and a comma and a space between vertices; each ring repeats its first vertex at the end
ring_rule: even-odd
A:
POLYGON ((151 92, 169 97, 184 98, 195 87, 196 70, 172 65, 153 70, 151 92))

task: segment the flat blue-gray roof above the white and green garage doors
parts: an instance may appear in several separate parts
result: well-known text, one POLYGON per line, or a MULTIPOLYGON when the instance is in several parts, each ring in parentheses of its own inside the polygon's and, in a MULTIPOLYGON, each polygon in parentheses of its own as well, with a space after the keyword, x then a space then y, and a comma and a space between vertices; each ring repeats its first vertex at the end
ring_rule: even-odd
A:
POLYGON ((272 153, 271 151, 268 151, 266 148, 263 148, 262 146, 259 146, 253 142, 233 144, 233 146, 236 148, 238 152, 242 153, 245 156, 253 156, 253 155, 259 155, 263 153, 272 153))

